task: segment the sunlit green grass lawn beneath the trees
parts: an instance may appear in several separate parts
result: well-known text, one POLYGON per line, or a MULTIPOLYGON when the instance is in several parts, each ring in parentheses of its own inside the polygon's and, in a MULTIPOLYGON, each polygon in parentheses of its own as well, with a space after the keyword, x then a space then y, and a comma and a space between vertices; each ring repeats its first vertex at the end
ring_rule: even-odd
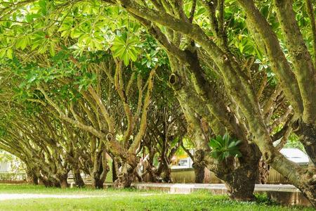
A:
POLYGON ((237 203, 229 200, 227 196, 212 196, 206 192, 168 194, 135 189, 64 190, 24 184, 0 184, 1 196, 22 198, 0 198, 0 210, 313 210, 303 207, 282 207, 264 196, 259 196, 257 203, 237 203), (24 198, 25 196, 30 198, 24 198), (38 196, 46 198, 36 198, 38 196))

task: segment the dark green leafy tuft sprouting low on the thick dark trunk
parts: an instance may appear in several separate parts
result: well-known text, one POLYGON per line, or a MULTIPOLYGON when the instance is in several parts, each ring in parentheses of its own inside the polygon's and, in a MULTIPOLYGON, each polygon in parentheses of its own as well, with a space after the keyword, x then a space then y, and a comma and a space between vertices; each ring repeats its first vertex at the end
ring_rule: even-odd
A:
POLYGON ((238 147, 241 142, 231 138, 228 133, 225 133, 223 136, 216 136, 216 139, 211 139, 209 142, 209 146, 212 148, 211 155, 217 160, 224 160, 229 157, 242 157, 238 147))

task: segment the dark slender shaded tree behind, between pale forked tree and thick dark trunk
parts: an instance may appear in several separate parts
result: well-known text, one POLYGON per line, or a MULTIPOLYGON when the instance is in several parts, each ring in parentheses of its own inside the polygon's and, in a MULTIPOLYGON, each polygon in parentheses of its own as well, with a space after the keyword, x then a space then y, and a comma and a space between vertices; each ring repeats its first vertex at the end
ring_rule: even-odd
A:
POLYGON ((185 117, 166 82, 164 80, 155 87, 143 139, 143 151, 147 157, 143 174, 150 174, 150 180, 156 182, 161 179, 172 182, 171 160, 186 134, 185 117), (154 158, 157 159, 157 167, 154 167, 154 158))

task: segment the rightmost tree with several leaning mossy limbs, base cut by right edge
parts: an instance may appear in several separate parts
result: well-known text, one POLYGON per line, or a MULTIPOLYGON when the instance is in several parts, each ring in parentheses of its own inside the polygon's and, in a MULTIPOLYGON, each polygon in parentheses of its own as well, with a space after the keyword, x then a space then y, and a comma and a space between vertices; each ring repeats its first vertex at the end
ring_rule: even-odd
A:
MULTIPOLYGON (((114 3, 113 1, 108 2, 114 3)), ((243 60, 245 60, 246 55, 238 55, 228 46, 228 36, 224 27, 227 20, 225 19, 225 2, 218 1, 219 4, 217 4, 215 1, 201 1, 202 7, 209 12, 209 26, 213 39, 208 36, 203 27, 190 23, 190 19, 187 18, 183 9, 183 1, 177 1, 177 3, 167 1, 166 4, 160 4, 160 1, 151 2, 152 6, 143 5, 137 1, 125 0, 119 1, 119 4, 135 16, 163 25, 170 30, 183 34, 185 37, 190 37, 206 51, 209 60, 213 61, 216 68, 218 68, 218 73, 223 80, 223 84, 225 84, 227 93, 242 111, 242 117, 238 117, 238 120, 243 122, 243 118, 246 119, 249 131, 254 134, 254 141, 263 153, 265 161, 288 177, 310 199, 312 205, 315 205, 316 191, 315 179, 313 179, 316 172, 315 165, 308 170, 298 167, 298 165, 294 165, 294 163, 284 158, 272 145, 272 139, 265 125, 261 107, 258 106, 258 98, 251 84, 251 78, 244 72, 243 60), (216 16, 216 11, 218 11, 218 16, 216 16)), ((312 4, 310 1, 306 2, 308 2, 308 8, 310 8, 312 4)), ((235 4, 235 2, 232 3, 235 4)), ((226 4, 226 6, 229 5, 229 3, 226 4)), ((282 41, 285 41, 287 51, 291 56, 290 59, 287 59, 284 51, 282 51, 277 34, 269 25, 268 20, 259 11, 258 8, 262 5, 256 6, 254 1, 238 1, 238 5, 242 7, 242 11, 249 18, 249 23, 254 25, 256 32, 260 34, 259 36, 264 42, 266 52, 263 53, 266 53, 272 71, 277 76, 287 100, 294 108, 296 123, 300 126, 298 127, 298 133, 301 132, 303 143, 304 140, 308 140, 308 144, 305 143, 305 148, 308 149, 307 152, 310 158, 314 160, 315 150, 312 150, 312 148, 315 148, 316 143, 313 135, 315 134, 316 109, 315 103, 312 103, 311 99, 316 96, 316 73, 311 54, 303 40, 303 34, 300 32, 295 17, 293 4, 291 1, 273 1, 272 5, 268 5, 275 8, 280 25, 277 30, 284 34, 282 41), (289 63, 290 60, 293 61, 292 67, 289 63)), ((311 20, 311 25, 315 25, 315 18, 311 20)), ((312 31, 312 34, 315 34, 315 30, 312 31)), ((181 52, 181 54, 184 53, 181 52)), ((199 81, 197 85, 199 85, 199 88, 205 88, 202 81, 199 81)), ((218 117, 214 111, 213 114, 218 117)))

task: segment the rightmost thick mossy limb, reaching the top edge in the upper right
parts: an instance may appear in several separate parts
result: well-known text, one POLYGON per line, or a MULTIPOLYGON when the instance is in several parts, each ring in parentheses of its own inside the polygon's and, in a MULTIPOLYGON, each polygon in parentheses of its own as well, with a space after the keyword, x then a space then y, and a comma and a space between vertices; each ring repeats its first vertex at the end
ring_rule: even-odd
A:
MULTIPOLYGON (((298 81, 303 100, 303 120, 307 123, 316 122, 316 103, 310 103, 311 98, 316 98, 316 71, 312 63, 312 57, 305 45, 298 23, 293 11, 293 1, 274 0, 277 18, 281 26, 285 44, 291 55, 294 74, 298 81)), ((314 18, 315 23, 315 18, 314 18)))

